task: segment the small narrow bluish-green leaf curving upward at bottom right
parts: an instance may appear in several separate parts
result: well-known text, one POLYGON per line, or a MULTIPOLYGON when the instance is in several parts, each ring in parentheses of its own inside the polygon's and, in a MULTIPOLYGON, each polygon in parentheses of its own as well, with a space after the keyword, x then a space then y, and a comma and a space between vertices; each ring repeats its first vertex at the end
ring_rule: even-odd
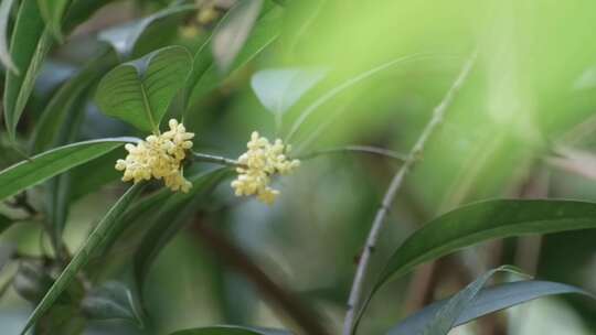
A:
MULTIPOLYGON (((464 290, 459 291, 451 299, 444 304, 429 322, 425 325, 424 335, 447 335, 454 327, 457 320, 464 313, 466 309, 475 301, 480 290, 485 287, 487 281, 500 271, 510 271, 509 268, 500 267, 487 271, 480 275, 477 280, 467 285, 464 290)), ((517 272, 517 271, 515 271, 517 272)))

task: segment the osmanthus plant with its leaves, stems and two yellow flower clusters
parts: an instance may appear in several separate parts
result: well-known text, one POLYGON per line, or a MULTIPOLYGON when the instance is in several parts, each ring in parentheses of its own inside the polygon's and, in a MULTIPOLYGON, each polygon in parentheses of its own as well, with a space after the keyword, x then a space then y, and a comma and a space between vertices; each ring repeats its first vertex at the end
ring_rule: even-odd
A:
MULTIPOLYGON (((14 153, 9 159, 13 164, 0 172, 0 201, 23 209, 29 215, 26 219, 40 221, 52 248, 52 252, 39 258, 10 248, 2 250, 7 261, 20 261, 20 270, 11 282, 34 307, 21 334, 83 334, 89 321, 108 318, 129 320, 146 327, 151 315, 145 312, 142 288, 149 268, 217 185, 227 184, 230 193, 253 196, 270 205, 292 192, 289 187, 274 188, 275 179, 309 169, 305 161, 322 154, 372 153, 401 162, 358 263, 345 307, 347 335, 358 333, 369 302, 385 282, 424 262, 497 238, 596 228, 596 204, 586 202, 496 199, 462 206, 436 217, 402 242, 382 275, 368 289, 364 282, 370 277, 369 263, 387 208, 426 141, 448 117, 459 88, 475 71, 476 53, 470 52, 408 154, 364 145, 307 153, 291 150, 292 144, 301 144, 294 143, 295 133, 317 108, 406 57, 381 64, 317 97, 284 133, 284 140, 268 140, 259 133, 263 130, 255 129, 246 134, 246 151, 242 155, 220 156, 193 148, 200 147, 203 139, 201 133, 187 129, 188 112, 233 71, 276 43, 287 1, 241 0, 232 7, 216 8, 215 1, 177 1, 125 26, 106 29, 93 37, 100 45, 95 58, 54 90, 40 115, 30 112, 25 107, 31 104, 40 69, 50 62, 49 53, 62 47, 73 30, 107 2, 3 0, 0 4, 0 61, 6 68, 3 119, 6 140, 10 143, 10 149, 2 150, 14 153), (175 39, 189 18, 196 20, 199 26, 185 26, 184 34, 202 29, 209 35, 194 52, 175 39), (89 101, 105 116, 128 123, 130 127, 125 129, 130 137, 77 141, 83 120, 88 117, 83 111, 89 101), (20 127, 25 117, 26 127, 20 127), (138 134, 140 138, 135 137, 138 134), (96 164, 109 165, 108 175, 95 176, 96 164), (207 169, 213 164, 221 166, 207 169), (121 179, 121 187, 126 185, 127 191, 72 252, 63 233, 74 196, 96 192, 115 176, 121 179), (45 205, 36 208, 29 198, 40 190, 45 205), (117 258, 114 246, 118 244, 135 248, 132 287, 97 275, 97 262, 117 258)), ((307 66, 257 71, 252 87, 280 125, 285 112, 297 106, 328 72, 307 66)), ((0 215, 0 230, 22 219, 0 215)), ((485 288, 498 272, 520 271, 510 267, 491 270, 386 334, 447 334, 457 325, 536 298, 562 293, 593 296, 575 287, 538 280, 485 288)), ((328 325, 316 314, 299 313, 288 301, 280 305, 292 318, 294 329, 205 325, 172 335, 329 334, 328 325)))

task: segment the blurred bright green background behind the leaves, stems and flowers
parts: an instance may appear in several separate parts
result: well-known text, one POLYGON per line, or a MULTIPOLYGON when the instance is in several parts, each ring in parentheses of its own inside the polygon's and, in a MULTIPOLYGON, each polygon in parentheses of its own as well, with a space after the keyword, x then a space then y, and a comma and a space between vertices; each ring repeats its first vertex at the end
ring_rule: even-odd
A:
MULTIPOLYGON (((227 6, 228 1, 223 2, 227 6)), ((465 203, 494 197, 596 201, 594 1, 284 2, 285 7, 274 9, 283 17, 276 43, 221 87, 193 101, 185 123, 196 133, 196 150, 236 158, 253 130, 270 139, 284 137, 300 112, 333 87, 386 62, 413 56, 337 95, 316 109, 291 139, 300 153, 347 144, 407 153, 465 61, 478 52, 470 77, 391 208, 373 273, 414 229, 465 203), (274 116, 251 88, 251 77, 281 67, 320 68, 327 76, 284 115, 276 129, 274 116)), ((21 132, 26 133, 57 85, 93 55, 98 31, 167 4, 114 1, 83 24, 52 52, 21 132)), ((212 28, 196 20, 191 15, 178 22, 164 44, 196 50, 212 28)), ((85 108, 82 138, 134 132, 92 104, 85 108)), ((2 149, 0 159, 2 166, 18 160, 8 149, 2 149)), ((280 287, 318 310, 337 333, 355 259, 397 166, 374 155, 312 159, 276 182, 281 196, 274 206, 234 197, 226 182, 200 217, 202 225, 242 248, 280 287)), ((94 169, 113 179, 117 175, 109 161, 94 169)), ((111 182, 76 202, 66 229, 73 250, 124 187, 111 182)), ((32 199, 39 198, 34 192, 32 199)), ((288 317, 256 289, 254 278, 231 266, 196 225, 178 234, 151 270, 145 295, 153 324, 138 331, 131 324, 98 322, 89 334, 167 334, 222 323, 287 325, 288 317)), ((441 259, 387 284, 373 300, 361 334, 381 334, 502 263, 594 292, 595 240, 596 233, 590 230, 507 239, 441 259)), ((43 253, 40 245, 46 245, 40 242, 36 226, 28 223, 12 227, 1 242, 18 244, 29 255, 43 253)), ((111 271, 111 277, 126 273, 126 257, 125 250, 118 268, 124 270, 111 271)), ((3 277, 10 271, 14 269, 3 271, 3 277)), ((15 334, 29 304, 9 289, 0 306, 1 333, 15 334)), ((585 299, 545 299, 454 334, 596 334, 596 307, 585 299)))

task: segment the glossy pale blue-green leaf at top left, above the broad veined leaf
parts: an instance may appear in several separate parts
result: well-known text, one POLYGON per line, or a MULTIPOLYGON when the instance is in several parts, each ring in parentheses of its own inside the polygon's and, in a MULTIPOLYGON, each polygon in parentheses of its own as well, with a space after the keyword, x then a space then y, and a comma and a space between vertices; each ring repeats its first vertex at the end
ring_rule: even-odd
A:
POLYGON ((105 30, 98 39, 109 43, 124 57, 139 56, 143 50, 155 48, 141 45, 141 40, 148 40, 150 46, 162 44, 159 42, 168 40, 169 32, 175 32, 178 23, 195 9, 191 4, 167 8, 139 21, 105 30))

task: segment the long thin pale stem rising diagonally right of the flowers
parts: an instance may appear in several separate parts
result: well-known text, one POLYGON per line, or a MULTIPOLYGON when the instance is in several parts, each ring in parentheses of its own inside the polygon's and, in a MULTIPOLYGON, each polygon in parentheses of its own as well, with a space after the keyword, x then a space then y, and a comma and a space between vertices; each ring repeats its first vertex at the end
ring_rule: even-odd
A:
MULTIPOLYGON (((348 312, 345 314, 345 320, 343 324, 344 335, 352 334, 352 329, 355 326, 354 321, 358 321, 355 318, 356 304, 362 300, 362 290, 363 290, 365 277, 369 272, 370 260, 376 248, 376 242, 379 240, 380 233, 383 228, 383 224, 385 221, 385 216, 387 214, 387 210, 393 204, 395 195, 397 194, 397 191, 400 191, 405 175, 412 169, 414 163, 417 161, 417 158, 422 154, 428 138, 434 133, 436 128, 441 123, 445 112, 447 110, 447 107, 449 107, 449 105, 451 104, 454 99, 455 94, 464 85, 464 82, 468 77, 473 66, 475 60, 476 60, 476 52, 466 62, 461 72, 457 76, 455 83, 451 85, 446 96, 440 101, 440 104, 437 107, 435 107, 435 109, 433 110, 433 116, 430 118, 430 121, 426 125, 421 137, 414 144, 414 148, 412 148, 412 151, 407 155, 406 161, 400 168, 400 170, 397 170, 397 172, 393 176, 393 180, 391 181, 391 184, 385 193, 385 196, 383 197, 381 207, 376 212, 376 215, 372 223, 371 230, 369 233, 369 237, 366 238, 365 248, 362 251, 362 256, 360 257, 360 261, 358 263, 354 282, 352 284, 352 290, 350 292, 350 298, 348 300, 348 312)), ((362 310, 365 307, 365 305, 366 303, 364 304, 362 310)))

